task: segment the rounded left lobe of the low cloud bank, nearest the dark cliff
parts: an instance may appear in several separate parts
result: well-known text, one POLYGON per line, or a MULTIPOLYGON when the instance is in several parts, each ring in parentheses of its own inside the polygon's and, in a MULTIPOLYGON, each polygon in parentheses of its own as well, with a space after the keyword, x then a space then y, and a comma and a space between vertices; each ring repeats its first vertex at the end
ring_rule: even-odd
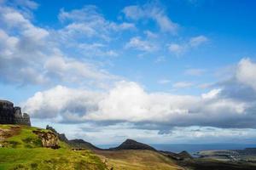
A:
POLYGON ((34 117, 55 118, 67 122, 79 122, 81 116, 88 111, 96 110, 96 103, 101 94, 86 91, 84 89, 72 89, 56 86, 44 92, 38 92, 24 105, 24 111, 34 117))

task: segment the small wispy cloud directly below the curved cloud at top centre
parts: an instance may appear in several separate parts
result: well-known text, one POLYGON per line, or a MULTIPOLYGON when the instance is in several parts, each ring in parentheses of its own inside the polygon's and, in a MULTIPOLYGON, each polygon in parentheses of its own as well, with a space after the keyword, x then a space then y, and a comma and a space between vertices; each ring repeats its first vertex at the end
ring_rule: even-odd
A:
POLYGON ((154 43, 142 40, 140 37, 132 37, 130 41, 125 44, 125 48, 135 48, 144 52, 153 52, 157 49, 154 43))

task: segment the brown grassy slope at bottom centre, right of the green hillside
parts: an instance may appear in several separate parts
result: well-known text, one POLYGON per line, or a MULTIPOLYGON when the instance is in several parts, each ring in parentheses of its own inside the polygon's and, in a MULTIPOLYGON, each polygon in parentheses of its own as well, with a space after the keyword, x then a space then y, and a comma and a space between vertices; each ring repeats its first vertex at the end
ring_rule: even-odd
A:
POLYGON ((152 150, 98 150, 108 167, 113 170, 174 170, 178 167, 171 159, 152 150))

